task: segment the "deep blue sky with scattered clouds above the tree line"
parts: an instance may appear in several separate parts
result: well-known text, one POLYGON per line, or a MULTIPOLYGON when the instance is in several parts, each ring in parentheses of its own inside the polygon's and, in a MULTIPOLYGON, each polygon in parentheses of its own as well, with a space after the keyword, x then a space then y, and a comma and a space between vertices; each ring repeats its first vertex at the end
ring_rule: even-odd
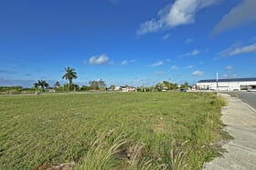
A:
POLYGON ((0 2, 0 85, 155 85, 256 76, 255 0, 0 2))

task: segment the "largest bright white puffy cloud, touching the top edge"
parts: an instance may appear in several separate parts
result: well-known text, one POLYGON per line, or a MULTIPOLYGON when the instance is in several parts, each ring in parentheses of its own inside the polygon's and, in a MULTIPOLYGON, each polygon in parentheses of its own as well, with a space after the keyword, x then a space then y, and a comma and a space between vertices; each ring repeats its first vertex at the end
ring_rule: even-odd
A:
POLYGON ((178 25, 187 25, 195 22, 197 11, 215 5, 220 0, 176 0, 173 5, 166 5, 158 12, 158 19, 151 19, 140 25, 137 35, 170 29, 178 25))

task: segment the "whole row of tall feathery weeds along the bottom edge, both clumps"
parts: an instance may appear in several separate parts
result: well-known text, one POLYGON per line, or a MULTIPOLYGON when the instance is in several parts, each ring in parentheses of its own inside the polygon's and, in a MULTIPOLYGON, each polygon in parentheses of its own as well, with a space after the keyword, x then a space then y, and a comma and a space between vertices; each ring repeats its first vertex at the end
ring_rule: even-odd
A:
POLYGON ((76 170, 183 170, 187 169, 188 141, 177 144, 174 140, 165 150, 163 158, 147 159, 143 144, 133 144, 121 133, 108 145, 112 134, 103 134, 96 139, 87 155, 81 159, 76 170))

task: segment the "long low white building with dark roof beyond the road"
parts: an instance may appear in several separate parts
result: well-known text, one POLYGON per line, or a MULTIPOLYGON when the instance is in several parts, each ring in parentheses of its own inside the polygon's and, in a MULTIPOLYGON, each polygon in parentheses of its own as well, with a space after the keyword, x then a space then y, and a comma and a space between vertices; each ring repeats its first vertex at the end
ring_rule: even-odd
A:
POLYGON ((231 78, 231 79, 216 79, 200 80, 197 82, 198 90, 248 90, 256 88, 256 77, 252 78, 231 78))

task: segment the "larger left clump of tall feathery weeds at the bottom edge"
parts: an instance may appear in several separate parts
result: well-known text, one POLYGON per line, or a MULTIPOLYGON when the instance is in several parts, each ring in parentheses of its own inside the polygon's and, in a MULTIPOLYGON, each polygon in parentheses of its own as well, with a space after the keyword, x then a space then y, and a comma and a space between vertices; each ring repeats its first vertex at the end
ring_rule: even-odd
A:
POLYGON ((144 145, 132 145, 124 133, 118 135, 108 144, 112 138, 112 131, 102 134, 92 142, 87 155, 76 166, 77 170, 148 170, 154 168, 153 160, 143 157, 144 145), (122 165, 125 165, 123 166, 122 165))

